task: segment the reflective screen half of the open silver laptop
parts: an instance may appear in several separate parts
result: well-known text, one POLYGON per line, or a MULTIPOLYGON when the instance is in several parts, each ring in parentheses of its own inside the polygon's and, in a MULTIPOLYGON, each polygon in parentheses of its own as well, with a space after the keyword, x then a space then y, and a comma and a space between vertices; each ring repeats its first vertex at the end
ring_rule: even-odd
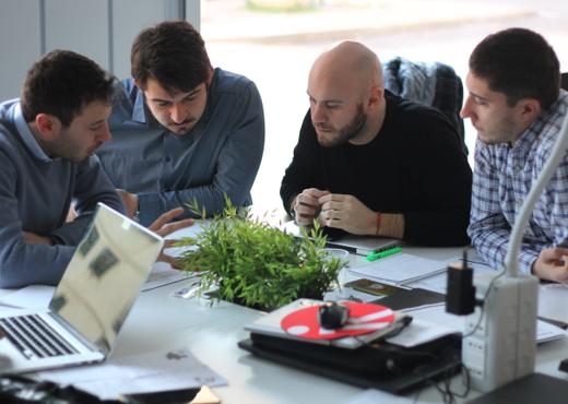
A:
POLYGON ((159 236, 99 203, 49 309, 107 354, 162 246, 159 236))

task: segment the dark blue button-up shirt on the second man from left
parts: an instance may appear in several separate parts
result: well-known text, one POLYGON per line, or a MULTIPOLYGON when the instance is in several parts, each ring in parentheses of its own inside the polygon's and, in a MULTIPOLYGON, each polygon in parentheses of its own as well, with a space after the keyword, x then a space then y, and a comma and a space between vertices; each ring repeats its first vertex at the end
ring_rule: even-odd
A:
MULTIPOLYGON (((250 189, 262 159, 264 116, 255 83, 215 69, 205 110, 193 129, 177 135, 156 123, 131 79, 117 88, 113 140, 98 156, 117 188, 139 197, 139 218, 197 201, 208 215, 251 202, 250 189)), ((186 216, 192 216, 190 212, 186 216)))

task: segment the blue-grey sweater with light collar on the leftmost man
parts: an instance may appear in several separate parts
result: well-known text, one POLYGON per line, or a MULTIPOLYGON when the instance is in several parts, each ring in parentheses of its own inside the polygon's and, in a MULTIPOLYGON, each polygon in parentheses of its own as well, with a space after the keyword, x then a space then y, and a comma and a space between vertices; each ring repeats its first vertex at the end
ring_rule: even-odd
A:
POLYGON ((0 287, 57 284, 97 202, 123 211, 98 158, 50 158, 25 122, 20 102, 0 104, 0 287), (66 223, 72 199, 79 216, 66 223), (57 245, 27 245, 24 231, 57 245))

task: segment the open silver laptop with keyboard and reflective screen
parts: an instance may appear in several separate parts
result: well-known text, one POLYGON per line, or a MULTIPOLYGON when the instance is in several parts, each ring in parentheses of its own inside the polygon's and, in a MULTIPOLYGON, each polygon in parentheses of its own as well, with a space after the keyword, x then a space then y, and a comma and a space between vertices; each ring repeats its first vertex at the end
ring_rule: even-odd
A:
POLYGON ((164 240, 99 203, 49 309, 0 313, 0 371, 27 372, 104 360, 164 240))

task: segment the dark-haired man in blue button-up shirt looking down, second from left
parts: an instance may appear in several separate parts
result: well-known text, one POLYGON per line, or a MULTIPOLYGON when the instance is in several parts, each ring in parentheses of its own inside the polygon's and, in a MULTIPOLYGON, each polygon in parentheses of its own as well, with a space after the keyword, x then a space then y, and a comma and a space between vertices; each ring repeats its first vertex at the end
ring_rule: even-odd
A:
MULTIPOLYGON (((211 67, 187 22, 142 31, 132 78, 117 87, 113 141, 98 152, 127 213, 149 224, 197 202, 208 215, 250 204, 264 144, 260 95, 250 80, 211 67)), ((191 215, 191 212, 186 212, 191 215)))

